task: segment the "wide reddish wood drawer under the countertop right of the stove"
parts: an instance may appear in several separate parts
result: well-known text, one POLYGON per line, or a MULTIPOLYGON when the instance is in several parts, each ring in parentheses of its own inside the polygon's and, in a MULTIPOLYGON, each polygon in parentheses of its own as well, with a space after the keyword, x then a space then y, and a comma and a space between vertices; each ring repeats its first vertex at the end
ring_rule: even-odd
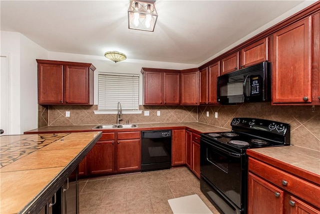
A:
POLYGON ((249 157, 249 171, 320 207, 320 186, 249 157), (284 182, 284 184, 282 184, 284 182), (285 184, 286 183, 286 184, 285 184))

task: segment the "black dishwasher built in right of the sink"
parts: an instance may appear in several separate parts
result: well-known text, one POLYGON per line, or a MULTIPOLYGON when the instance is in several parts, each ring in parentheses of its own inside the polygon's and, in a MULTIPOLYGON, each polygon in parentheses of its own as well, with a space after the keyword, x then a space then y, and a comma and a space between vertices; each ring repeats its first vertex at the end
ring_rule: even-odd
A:
POLYGON ((171 130, 142 131, 141 171, 171 167, 171 130))

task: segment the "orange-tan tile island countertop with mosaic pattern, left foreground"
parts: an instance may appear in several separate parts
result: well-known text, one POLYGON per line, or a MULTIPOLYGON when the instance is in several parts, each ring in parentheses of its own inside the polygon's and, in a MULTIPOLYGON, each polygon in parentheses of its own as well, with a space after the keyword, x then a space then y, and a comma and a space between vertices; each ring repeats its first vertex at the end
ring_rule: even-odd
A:
POLYGON ((0 137, 0 213, 37 213, 102 136, 100 131, 0 137))

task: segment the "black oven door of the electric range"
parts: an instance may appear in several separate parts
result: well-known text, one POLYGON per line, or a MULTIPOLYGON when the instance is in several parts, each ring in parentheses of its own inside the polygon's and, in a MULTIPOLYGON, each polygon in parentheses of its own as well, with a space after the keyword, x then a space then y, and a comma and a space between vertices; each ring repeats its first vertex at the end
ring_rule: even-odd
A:
POLYGON ((246 168, 245 154, 230 151, 220 143, 201 137, 201 176, 213 184, 221 197, 239 208, 245 206, 246 168))

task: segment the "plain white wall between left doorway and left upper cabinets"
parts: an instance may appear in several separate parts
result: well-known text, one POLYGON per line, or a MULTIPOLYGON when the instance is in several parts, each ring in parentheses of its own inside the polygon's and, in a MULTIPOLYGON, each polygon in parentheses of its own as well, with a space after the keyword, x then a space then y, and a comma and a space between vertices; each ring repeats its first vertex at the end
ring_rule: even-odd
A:
POLYGON ((11 132, 22 134, 37 128, 37 64, 47 58, 47 51, 20 33, 1 31, 1 53, 10 58, 9 78, 11 132))

